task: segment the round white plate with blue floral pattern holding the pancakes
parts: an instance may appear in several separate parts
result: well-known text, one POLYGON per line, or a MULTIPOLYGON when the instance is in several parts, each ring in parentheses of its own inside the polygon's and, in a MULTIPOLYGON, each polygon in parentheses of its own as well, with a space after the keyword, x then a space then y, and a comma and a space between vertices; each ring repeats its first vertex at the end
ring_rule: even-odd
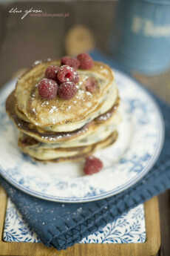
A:
POLYGON ((160 154, 163 118, 152 96, 135 80, 118 70, 115 79, 123 122, 118 141, 95 154, 103 160, 104 168, 91 176, 84 175, 83 162, 37 163, 19 151, 16 127, 4 108, 16 81, 7 84, 0 94, 0 174, 28 194, 64 203, 100 200, 137 183, 160 154))

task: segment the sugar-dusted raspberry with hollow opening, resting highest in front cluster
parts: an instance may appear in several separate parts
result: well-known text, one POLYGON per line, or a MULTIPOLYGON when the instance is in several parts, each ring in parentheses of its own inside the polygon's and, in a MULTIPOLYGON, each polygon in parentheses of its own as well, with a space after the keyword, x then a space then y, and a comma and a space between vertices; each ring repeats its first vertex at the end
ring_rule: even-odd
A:
POLYGON ((75 70, 67 65, 61 66, 57 73, 57 78, 60 83, 73 81, 75 70))

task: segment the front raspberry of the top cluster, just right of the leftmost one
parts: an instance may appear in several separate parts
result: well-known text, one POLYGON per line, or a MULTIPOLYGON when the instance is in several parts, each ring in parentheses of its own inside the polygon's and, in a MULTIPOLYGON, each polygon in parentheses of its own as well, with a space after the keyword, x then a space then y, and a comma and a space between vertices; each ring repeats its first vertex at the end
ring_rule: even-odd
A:
POLYGON ((78 89, 74 82, 64 82, 58 88, 58 96, 61 99, 71 99, 77 91, 78 89))

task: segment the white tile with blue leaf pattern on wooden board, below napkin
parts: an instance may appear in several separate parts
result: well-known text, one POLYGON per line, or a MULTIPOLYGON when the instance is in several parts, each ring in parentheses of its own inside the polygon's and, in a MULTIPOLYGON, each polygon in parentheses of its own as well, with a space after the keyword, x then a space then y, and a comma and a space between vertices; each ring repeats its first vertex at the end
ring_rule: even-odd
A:
MULTIPOLYGON (((3 240, 6 242, 40 243, 37 235, 22 220, 13 203, 8 200, 3 240)), ((143 205, 135 207, 108 223, 80 243, 144 243, 146 227, 143 205)))

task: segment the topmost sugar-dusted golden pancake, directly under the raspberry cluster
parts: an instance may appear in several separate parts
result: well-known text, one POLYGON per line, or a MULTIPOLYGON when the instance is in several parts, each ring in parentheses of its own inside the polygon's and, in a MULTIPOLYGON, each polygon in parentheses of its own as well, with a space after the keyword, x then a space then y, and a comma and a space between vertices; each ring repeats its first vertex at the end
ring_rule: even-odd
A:
POLYGON ((118 89, 112 70, 101 62, 95 62, 90 70, 78 70, 78 93, 72 99, 42 99, 38 94, 38 82, 44 77, 47 66, 58 64, 56 61, 40 63, 18 79, 15 91, 17 108, 21 119, 33 125, 49 131, 74 131, 108 111, 118 97, 118 89), (90 76, 98 80, 93 94, 84 89, 84 82, 90 76), (111 101, 108 100, 110 93, 111 101))

